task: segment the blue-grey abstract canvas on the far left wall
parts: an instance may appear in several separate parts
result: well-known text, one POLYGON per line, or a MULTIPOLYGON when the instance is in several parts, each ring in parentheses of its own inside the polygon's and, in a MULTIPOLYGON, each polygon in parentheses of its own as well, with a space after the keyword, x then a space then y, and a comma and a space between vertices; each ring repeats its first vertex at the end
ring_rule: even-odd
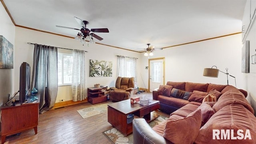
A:
POLYGON ((13 45, 0 36, 0 68, 13 68, 13 45))

